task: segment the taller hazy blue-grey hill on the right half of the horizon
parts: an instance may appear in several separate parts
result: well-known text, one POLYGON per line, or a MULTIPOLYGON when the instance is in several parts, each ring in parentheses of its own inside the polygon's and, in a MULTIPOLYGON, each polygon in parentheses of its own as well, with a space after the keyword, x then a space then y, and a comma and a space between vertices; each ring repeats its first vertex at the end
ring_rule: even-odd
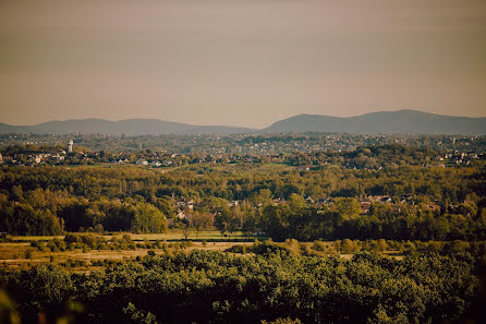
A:
POLYGON ((486 134, 486 118, 442 116, 416 110, 378 111, 349 118, 299 115, 280 120, 263 131, 267 133, 486 134))

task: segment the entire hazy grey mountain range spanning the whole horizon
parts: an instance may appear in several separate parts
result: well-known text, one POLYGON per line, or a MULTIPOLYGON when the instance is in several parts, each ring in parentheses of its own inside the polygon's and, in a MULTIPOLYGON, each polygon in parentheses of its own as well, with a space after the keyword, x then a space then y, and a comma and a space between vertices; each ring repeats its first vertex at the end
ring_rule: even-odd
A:
POLYGON ((100 133, 112 135, 147 134, 235 134, 235 133, 404 133, 404 134, 486 134, 486 118, 453 117, 416 110, 378 111, 355 117, 297 115, 275 122, 262 130, 224 127, 193 125, 157 119, 70 119, 35 125, 0 123, 0 133, 100 133))

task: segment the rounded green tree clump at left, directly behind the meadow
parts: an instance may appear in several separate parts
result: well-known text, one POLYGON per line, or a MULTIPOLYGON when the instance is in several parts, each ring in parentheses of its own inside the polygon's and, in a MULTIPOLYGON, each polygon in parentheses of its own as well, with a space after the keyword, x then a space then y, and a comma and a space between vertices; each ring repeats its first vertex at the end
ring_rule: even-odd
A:
POLYGON ((0 228, 11 235, 41 236, 64 230, 163 232, 167 220, 159 208, 139 199, 65 199, 51 206, 39 206, 0 195, 0 228))

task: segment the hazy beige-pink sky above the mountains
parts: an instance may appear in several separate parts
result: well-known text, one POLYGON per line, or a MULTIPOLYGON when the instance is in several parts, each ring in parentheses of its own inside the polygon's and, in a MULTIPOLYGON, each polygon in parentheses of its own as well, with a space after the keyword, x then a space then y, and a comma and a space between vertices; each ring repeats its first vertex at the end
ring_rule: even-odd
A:
POLYGON ((485 0, 0 0, 0 122, 486 116, 485 0))

